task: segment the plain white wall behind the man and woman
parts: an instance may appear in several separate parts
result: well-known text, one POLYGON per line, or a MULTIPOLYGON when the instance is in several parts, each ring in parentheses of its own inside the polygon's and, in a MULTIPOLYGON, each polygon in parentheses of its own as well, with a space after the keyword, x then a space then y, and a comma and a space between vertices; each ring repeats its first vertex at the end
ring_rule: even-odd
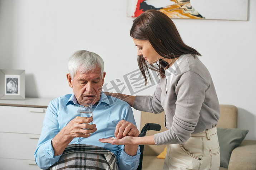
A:
MULTIPOLYGON (((256 140, 256 1, 248 21, 173 19, 183 41, 197 49, 221 104, 238 107, 238 128, 256 140)), ((235 15, 235 14, 234 14, 235 15)), ((125 0, 0 0, 0 69, 26 70, 26 97, 71 93, 67 59, 86 49, 105 61, 105 83, 138 68, 125 0)), ((139 95, 151 95, 154 87, 139 95)), ((125 93, 129 93, 126 89, 125 93)), ((135 111, 137 125, 140 112, 135 111)))

